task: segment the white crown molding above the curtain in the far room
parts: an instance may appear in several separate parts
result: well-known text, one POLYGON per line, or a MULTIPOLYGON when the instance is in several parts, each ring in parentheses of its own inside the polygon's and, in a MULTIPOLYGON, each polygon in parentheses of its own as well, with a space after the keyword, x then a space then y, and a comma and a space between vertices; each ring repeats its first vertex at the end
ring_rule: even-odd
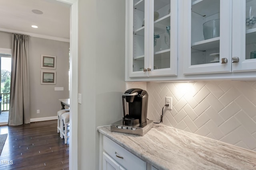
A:
POLYGON ((37 37, 37 38, 51 39, 51 40, 56 40, 56 41, 64 41, 64 42, 68 42, 68 43, 70 42, 70 39, 67 39, 67 38, 54 37, 54 36, 42 35, 42 34, 36 34, 36 33, 29 33, 29 32, 17 31, 17 30, 12 30, 12 29, 4 29, 4 28, 0 28, 0 31, 2 31, 2 32, 6 32, 6 33, 18 33, 18 34, 24 34, 24 35, 29 35, 30 37, 37 37))

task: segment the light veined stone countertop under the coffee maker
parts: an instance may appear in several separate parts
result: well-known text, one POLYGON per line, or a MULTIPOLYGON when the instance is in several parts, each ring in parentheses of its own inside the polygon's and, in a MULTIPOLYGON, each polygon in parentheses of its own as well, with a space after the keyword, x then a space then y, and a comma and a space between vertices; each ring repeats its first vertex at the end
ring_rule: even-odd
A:
POLYGON ((97 130, 158 170, 256 170, 256 152, 165 125, 144 136, 97 130))

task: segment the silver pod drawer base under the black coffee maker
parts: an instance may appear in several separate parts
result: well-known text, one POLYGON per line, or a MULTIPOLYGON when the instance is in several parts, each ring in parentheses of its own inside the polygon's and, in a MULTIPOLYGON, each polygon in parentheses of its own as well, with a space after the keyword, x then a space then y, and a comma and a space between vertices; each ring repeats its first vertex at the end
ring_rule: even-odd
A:
POLYGON ((133 135, 145 135, 153 127, 153 121, 147 120, 145 123, 137 125, 124 125, 123 119, 112 123, 110 130, 112 132, 128 133, 133 135))

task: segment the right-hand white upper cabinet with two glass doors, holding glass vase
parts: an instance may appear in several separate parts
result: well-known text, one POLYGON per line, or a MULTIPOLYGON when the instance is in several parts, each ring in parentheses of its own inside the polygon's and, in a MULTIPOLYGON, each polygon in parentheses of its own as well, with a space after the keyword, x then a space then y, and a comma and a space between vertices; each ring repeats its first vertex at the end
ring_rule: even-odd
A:
POLYGON ((184 74, 256 70, 256 0, 182 3, 184 74))

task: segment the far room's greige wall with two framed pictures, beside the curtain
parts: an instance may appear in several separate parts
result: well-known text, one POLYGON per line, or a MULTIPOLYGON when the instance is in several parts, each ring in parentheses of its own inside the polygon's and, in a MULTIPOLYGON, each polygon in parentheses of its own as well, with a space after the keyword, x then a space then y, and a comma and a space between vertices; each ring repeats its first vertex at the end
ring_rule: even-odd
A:
MULTIPOLYGON (((12 48, 12 34, 0 32, 0 48, 12 48)), ((42 117, 56 116, 61 109, 61 98, 69 98, 68 70, 69 43, 36 37, 29 37, 28 58, 30 74, 30 117, 37 121, 42 117), (40 83, 41 55, 56 56, 56 84, 40 83), (64 87, 64 91, 54 91, 54 87, 64 87), (40 114, 36 110, 40 110, 40 114)), ((53 69, 48 69, 53 70, 53 69)))

